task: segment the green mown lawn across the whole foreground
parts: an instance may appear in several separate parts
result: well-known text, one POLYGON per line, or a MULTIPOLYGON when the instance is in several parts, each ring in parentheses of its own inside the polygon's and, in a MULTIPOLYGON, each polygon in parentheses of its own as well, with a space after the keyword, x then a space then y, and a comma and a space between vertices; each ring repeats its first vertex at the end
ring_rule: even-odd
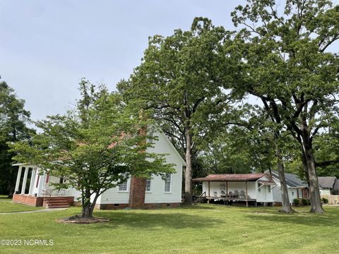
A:
MULTIPOLYGON (((308 207, 307 207, 308 209, 308 207)), ((52 239, 53 246, 0 246, 0 253, 336 253, 339 207, 326 214, 299 208, 194 205, 162 210, 95 212, 104 224, 59 224, 80 212, 0 214, 0 239, 52 239)))

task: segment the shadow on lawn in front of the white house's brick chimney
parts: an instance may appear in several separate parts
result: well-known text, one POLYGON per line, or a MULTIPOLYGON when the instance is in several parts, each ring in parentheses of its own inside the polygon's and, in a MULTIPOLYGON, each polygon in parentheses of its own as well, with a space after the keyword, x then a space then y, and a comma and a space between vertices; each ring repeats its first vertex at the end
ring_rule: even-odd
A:
POLYGON ((175 213, 148 213, 148 212, 100 212, 94 214, 95 217, 104 217, 109 222, 102 224, 92 224, 91 227, 101 229, 117 228, 126 226, 131 228, 154 229, 205 229, 222 223, 220 219, 203 217, 200 215, 175 213))

